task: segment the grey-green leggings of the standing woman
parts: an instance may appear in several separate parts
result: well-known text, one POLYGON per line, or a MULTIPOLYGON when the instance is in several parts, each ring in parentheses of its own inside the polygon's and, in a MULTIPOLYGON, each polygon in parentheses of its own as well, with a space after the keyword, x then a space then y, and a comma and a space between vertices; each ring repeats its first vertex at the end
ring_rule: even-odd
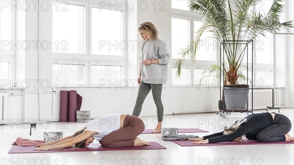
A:
POLYGON ((157 120, 158 122, 162 122, 163 119, 163 105, 161 102, 161 91, 162 91, 162 84, 147 84, 141 81, 138 96, 136 100, 136 104, 133 110, 133 116, 139 117, 142 105, 144 103, 145 98, 150 92, 152 91, 153 99, 157 109, 157 120))

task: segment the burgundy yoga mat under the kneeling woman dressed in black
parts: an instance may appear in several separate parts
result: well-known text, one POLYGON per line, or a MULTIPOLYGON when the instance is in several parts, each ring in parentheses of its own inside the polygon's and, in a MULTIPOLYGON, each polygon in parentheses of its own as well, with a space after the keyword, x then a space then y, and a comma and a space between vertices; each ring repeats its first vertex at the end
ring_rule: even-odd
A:
POLYGON ((180 146, 211 146, 211 145, 252 145, 252 144, 294 144, 294 141, 279 141, 279 142, 258 142, 245 140, 245 142, 218 142, 208 144, 193 144, 194 141, 172 141, 180 146))

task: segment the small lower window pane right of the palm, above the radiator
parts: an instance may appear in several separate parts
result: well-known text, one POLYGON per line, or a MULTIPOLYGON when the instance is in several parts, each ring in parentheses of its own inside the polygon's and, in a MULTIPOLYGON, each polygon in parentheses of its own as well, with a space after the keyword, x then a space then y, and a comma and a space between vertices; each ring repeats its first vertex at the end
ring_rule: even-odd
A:
POLYGON ((272 71, 256 71, 255 86, 269 86, 273 84, 272 71))

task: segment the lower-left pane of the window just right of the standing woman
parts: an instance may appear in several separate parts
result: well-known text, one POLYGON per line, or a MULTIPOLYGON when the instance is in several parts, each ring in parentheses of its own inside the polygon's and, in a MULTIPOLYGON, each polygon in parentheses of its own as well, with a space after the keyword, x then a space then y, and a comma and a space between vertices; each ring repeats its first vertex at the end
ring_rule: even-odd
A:
POLYGON ((181 69, 181 76, 176 77, 177 69, 172 68, 172 84, 190 84, 190 70, 181 69))

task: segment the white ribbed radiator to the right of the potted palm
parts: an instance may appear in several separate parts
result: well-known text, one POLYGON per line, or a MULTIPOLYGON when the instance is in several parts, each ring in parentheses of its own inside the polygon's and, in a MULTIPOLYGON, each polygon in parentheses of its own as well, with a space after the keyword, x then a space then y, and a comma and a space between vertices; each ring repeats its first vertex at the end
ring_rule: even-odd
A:
MULTIPOLYGON (((272 101, 274 101, 274 107, 281 107, 281 92, 279 90, 274 90, 273 100, 272 100, 272 89, 253 89, 253 109, 267 108, 267 106, 272 106, 272 101)), ((251 90, 248 94, 248 109, 252 107, 252 96, 251 90)))

